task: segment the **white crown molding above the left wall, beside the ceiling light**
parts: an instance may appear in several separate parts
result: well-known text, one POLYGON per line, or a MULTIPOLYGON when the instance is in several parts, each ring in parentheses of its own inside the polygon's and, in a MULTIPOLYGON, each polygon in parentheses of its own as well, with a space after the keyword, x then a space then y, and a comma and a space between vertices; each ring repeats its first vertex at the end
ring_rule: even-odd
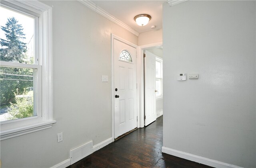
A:
POLYGON ((139 37, 140 33, 138 31, 132 29, 130 26, 128 26, 125 23, 123 23, 122 21, 116 19, 114 16, 110 15, 108 12, 106 12, 102 8, 98 7, 96 4, 94 4, 90 0, 78 0, 78 1, 81 2, 82 4, 84 4, 85 6, 89 7, 90 9, 94 10, 98 14, 104 16, 108 20, 110 20, 110 21, 116 23, 117 25, 119 25, 120 27, 126 29, 130 33, 132 33, 132 34, 136 35, 137 37, 139 37))

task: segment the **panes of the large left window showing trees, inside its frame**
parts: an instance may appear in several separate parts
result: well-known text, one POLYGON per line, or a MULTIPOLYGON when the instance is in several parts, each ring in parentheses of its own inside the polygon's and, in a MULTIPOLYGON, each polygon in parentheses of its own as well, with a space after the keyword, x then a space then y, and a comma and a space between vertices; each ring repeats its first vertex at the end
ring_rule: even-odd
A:
POLYGON ((40 116, 37 16, 0 6, 0 121, 40 116), (35 38, 36 37, 36 38, 35 38))

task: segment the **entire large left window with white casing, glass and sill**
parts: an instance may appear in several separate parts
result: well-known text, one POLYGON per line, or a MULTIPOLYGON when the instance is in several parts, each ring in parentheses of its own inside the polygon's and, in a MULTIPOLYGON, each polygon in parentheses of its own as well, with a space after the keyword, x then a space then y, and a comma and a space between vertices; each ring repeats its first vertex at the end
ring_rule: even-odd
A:
POLYGON ((2 0, 0 5, 3 140, 49 128, 56 121, 51 105, 51 8, 38 1, 2 0))

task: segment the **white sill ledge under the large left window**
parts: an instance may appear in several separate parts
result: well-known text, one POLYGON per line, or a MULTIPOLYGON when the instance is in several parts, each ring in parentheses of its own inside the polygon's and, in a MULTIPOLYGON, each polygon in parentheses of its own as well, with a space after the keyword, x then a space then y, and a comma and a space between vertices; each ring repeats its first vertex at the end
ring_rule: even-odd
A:
POLYGON ((0 141, 4 139, 9 139, 13 137, 18 137, 20 135, 25 135, 28 133, 33 133, 36 131, 40 131, 43 129, 48 129, 52 127, 52 124, 56 123, 55 120, 52 121, 41 121, 39 123, 32 123, 29 125, 24 125, 22 127, 8 128, 1 130, 1 138, 0 141))

